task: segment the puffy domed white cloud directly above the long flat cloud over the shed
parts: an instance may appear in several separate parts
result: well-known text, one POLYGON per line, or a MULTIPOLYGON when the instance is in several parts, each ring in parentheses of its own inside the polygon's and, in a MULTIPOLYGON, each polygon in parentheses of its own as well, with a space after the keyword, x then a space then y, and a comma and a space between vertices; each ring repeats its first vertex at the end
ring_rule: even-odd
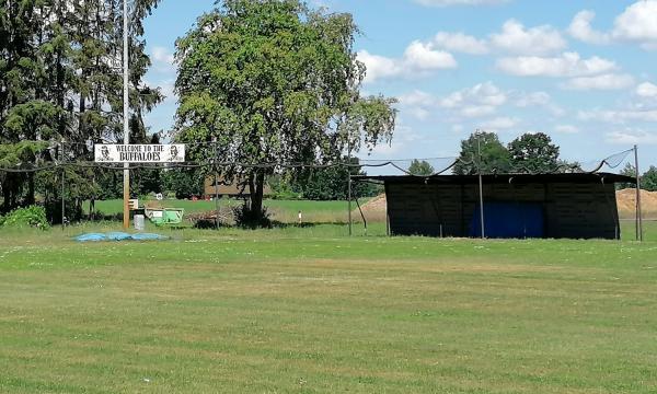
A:
POLYGON ((549 25, 525 28, 516 21, 507 21, 502 33, 491 35, 491 44, 511 54, 549 55, 566 48, 561 33, 549 25))

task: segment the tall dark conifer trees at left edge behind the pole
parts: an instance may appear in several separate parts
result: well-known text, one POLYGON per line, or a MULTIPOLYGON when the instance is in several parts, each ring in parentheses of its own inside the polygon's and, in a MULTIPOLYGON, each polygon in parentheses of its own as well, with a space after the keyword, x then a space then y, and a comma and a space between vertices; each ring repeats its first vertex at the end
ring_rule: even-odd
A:
MULTIPOLYGON (((130 140, 149 142, 142 115, 163 99, 143 83, 150 66, 141 21, 159 0, 130 9, 130 140)), ((0 1, 0 165, 93 160, 93 143, 123 136, 123 1, 0 1), (60 142, 65 141, 61 150, 60 142)), ((0 212, 58 195, 60 172, 0 172, 0 212)), ((69 170, 67 198, 93 199, 115 174, 69 170), (93 181, 93 182, 90 182, 93 181)), ((50 204, 53 202, 53 204, 50 204)), ((58 217, 57 215, 53 215, 58 217)))

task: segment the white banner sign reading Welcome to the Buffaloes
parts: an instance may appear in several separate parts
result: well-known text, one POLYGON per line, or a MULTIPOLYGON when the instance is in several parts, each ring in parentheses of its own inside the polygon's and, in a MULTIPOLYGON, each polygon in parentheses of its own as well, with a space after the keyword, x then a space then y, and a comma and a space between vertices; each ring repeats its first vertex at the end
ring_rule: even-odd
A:
POLYGON ((176 144, 96 144, 96 163, 182 163, 185 146, 176 144))

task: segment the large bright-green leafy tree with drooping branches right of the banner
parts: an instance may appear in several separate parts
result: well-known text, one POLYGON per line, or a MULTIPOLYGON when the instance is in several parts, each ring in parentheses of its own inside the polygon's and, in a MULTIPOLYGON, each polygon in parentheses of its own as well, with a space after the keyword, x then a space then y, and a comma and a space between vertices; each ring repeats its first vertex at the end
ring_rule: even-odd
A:
POLYGON ((226 0, 177 40, 175 138, 195 160, 250 164, 219 170, 250 185, 254 218, 274 169, 251 165, 337 161, 391 139, 394 100, 359 94, 357 33, 351 15, 299 0, 226 0))

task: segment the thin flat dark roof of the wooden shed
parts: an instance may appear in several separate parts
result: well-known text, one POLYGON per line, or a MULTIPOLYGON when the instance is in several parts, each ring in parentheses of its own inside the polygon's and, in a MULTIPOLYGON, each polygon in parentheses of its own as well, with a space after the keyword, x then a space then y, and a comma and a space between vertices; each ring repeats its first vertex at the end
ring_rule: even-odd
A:
MULTIPOLYGON (((402 184, 445 184, 445 185, 469 185, 479 183, 477 175, 358 175, 355 181, 381 181, 385 183, 402 184)), ((611 174, 611 173, 573 173, 573 174, 494 174, 482 175, 484 184, 502 183, 634 183, 636 179, 631 176, 611 174)))

